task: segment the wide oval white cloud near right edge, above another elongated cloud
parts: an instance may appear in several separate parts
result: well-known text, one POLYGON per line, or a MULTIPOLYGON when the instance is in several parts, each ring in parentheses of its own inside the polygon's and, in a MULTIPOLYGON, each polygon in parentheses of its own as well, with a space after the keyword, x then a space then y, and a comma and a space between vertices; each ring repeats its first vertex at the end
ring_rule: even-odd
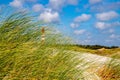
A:
POLYGON ((118 17, 118 15, 119 14, 114 11, 109 11, 109 12, 103 12, 103 13, 96 14, 96 18, 101 21, 108 21, 108 20, 118 17))

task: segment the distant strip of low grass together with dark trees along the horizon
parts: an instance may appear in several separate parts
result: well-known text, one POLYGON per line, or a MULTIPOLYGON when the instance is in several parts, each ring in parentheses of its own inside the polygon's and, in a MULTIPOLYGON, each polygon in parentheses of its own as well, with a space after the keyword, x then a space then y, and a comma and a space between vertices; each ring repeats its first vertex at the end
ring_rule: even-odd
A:
POLYGON ((111 46, 111 47, 100 46, 100 45, 97 45, 97 47, 95 45, 79 45, 79 46, 64 45, 64 46, 67 46, 66 49, 68 50, 87 52, 101 56, 114 57, 120 59, 120 48, 117 46, 111 46))

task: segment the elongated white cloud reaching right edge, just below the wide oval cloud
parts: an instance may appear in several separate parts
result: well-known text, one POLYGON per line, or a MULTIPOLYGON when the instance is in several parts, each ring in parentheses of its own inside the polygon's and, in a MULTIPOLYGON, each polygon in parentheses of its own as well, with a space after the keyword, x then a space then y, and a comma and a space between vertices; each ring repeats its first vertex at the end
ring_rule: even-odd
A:
POLYGON ((117 26, 120 26, 120 22, 113 22, 113 23, 97 22, 95 24, 95 27, 101 30, 110 28, 110 27, 117 27, 117 26))

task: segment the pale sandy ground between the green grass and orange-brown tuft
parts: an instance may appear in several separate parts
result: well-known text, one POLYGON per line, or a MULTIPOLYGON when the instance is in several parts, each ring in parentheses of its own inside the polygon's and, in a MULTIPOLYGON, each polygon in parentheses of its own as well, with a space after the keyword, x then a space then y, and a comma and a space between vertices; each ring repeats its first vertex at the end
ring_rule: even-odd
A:
MULTIPOLYGON (((86 65, 86 68, 88 68, 88 70, 84 72, 85 80, 101 80, 101 78, 96 74, 97 70, 112 60, 112 58, 110 57, 99 56, 91 53, 81 53, 75 51, 71 52, 78 54, 78 58, 84 59, 84 62, 88 63, 88 65, 86 65)), ((114 60, 120 63, 119 59, 114 60)), ((82 67, 81 64, 79 65, 79 67, 82 67)))

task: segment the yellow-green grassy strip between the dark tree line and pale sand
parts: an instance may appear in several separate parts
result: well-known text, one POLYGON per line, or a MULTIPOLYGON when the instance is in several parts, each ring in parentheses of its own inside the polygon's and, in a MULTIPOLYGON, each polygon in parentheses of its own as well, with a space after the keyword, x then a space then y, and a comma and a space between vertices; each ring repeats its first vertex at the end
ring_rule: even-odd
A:
POLYGON ((101 47, 97 49, 93 49, 93 48, 80 47, 76 45, 65 45, 65 46, 66 46, 65 49, 67 50, 92 53, 92 54, 97 54, 101 56, 114 57, 114 58, 120 59, 120 48, 119 47, 104 48, 103 50, 100 51, 99 49, 102 49, 101 47))

